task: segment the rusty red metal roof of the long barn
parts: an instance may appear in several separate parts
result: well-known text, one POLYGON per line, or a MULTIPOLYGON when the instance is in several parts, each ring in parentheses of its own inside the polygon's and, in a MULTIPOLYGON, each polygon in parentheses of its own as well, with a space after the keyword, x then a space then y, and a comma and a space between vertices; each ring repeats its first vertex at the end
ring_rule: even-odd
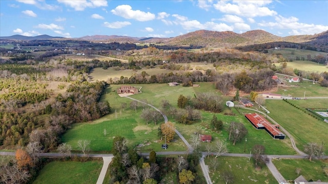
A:
POLYGON ((264 127, 267 129, 272 135, 284 135, 278 128, 275 127, 275 125, 272 125, 268 120, 263 118, 260 114, 258 113, 247 113, 245 114, 245 117, 251 121, 251 123, 255 127, 264 127))

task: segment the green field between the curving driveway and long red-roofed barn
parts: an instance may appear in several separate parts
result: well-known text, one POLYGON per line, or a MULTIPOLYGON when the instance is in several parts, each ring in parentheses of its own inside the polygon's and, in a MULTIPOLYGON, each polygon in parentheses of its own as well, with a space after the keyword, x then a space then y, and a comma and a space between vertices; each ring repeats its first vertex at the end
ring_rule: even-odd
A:
MULTIPOLYGON (((233 112, 235 116, 226 116, 223 113, 215 113, 218 120, 224 123, 223 130, 217 131, 211 128, 211 120, 213 114, 211 112, 202 112, 201 122, 194 123, 192 125, 182 125, 175 123, 177 130, 191 143, 190 139, 194 132, 201 134, 212 135, 212 143, 201 143, 201 151, 206 151, 206 145, 209 144, 215 149, 215 142, 222 140, 227 143, 229 153, 250 153, 255 145, 263 145, 265 147, 265 154, 286 154, 293 155, 296 152, 291 148, 290 140, 274 140, 266 131, 256 130, 253 128, 250 122, 244 118, 244 113, 239 114, 234 108, 233 112), (240 142, 233 145, 232 141, 229 140, 229 126, 231 122, 241 122, 245 125, 248 130, 248 134, 240 142), (247 141, 245 141, 247 139, 247 141)), ((240 109, 241 110, 241 109, 240 109)), ((253 113, 253 112, 252 112, 253 113)))

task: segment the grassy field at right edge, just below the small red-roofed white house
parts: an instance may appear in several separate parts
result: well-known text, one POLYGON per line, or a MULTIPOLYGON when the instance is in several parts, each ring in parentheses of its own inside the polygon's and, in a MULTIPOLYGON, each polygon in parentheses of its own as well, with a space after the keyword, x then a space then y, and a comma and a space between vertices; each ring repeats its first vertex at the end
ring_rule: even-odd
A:
POLYGON ((320 86, 319 83, 313 84, 311 81, 303 81, 298 82, 298 86, 295 86, 296 83, 285 81, 285 84, 289 86, 279 87, 275 93, 299 98, 303 98, 304 93, 305 98, 328 97, 328 88, 320 86))

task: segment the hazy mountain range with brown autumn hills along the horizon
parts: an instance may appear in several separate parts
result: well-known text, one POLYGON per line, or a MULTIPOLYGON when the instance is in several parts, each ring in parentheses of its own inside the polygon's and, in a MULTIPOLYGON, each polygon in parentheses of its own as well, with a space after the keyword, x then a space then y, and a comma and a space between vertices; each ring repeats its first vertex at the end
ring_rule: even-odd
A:
POLYGON ((320 47, 328 48, 328 30, 314 35, 295 35, 280 37, 273 35, 263 30, 253 30, 245 33, 234 33, 231 31, 208 31, 198 30, 171 38, 153 38, 153 37, 129 37, 117 35, 93 35, 79 38, 64 38, 52 37, 49 35, 39 36, 22 36, 13 35, 7 37, 0 37, 0 39, 13 40, 35 40, 35 39, 79 39, 88 41, 106 41, 106 42, 148 42, 148 43, 164 43, 167 45, 200 45, 210 47, 237 47, 253 44, 262 44, 269 42, 292 42, 292 43, 308 43, 311 45, 320 45, 320 47))

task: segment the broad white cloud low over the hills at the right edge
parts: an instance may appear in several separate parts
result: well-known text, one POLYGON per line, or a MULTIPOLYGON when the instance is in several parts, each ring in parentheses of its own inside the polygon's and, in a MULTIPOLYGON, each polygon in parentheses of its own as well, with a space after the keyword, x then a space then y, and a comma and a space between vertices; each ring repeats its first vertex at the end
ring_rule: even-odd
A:
POLYGON ((298 18, 293 16, 286 18, 278 15, 275 20, 275 22, 261 22, 258 25, 274 29, 290 29, 291 35, 316 34, 328 30, 328 26, 300 23, 298 18))

